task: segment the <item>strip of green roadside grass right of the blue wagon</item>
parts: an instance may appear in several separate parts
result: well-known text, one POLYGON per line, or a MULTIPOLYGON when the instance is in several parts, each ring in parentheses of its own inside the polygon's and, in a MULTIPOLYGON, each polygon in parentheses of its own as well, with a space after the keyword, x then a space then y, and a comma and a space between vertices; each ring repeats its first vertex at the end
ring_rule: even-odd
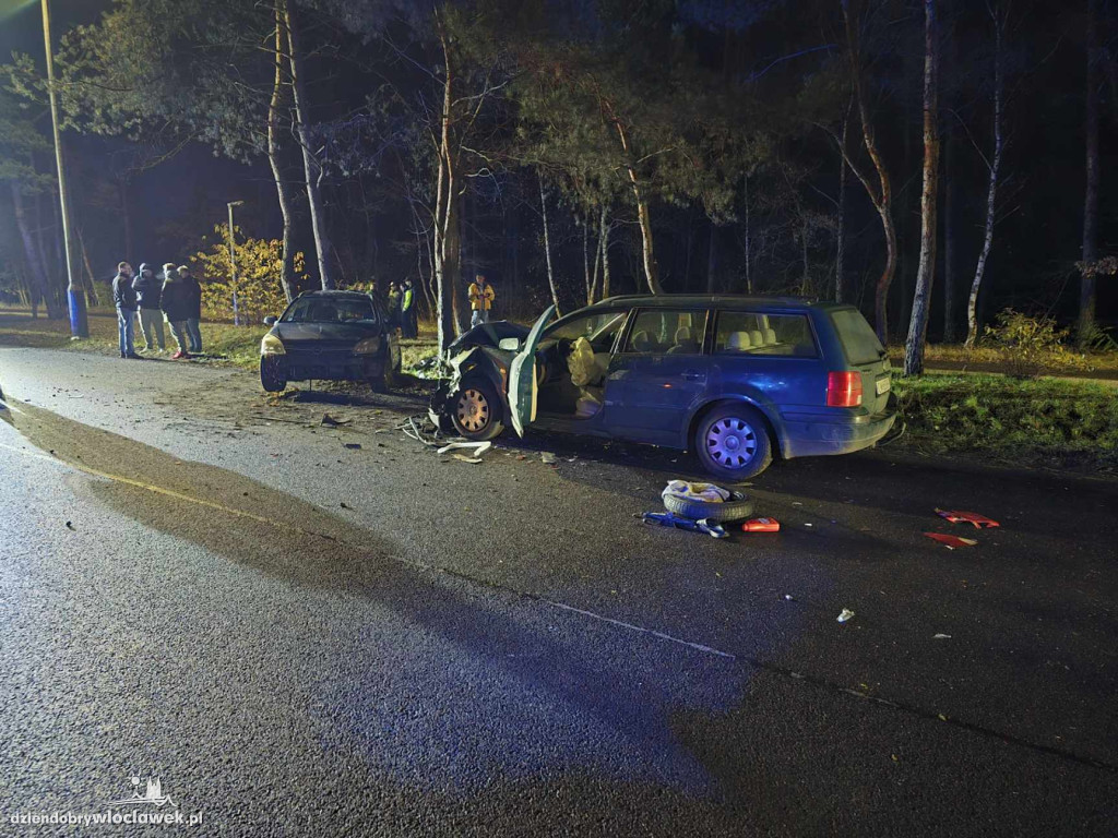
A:
POLYGON ((925 454, 980 453, 1016 465, 1114 472, 1118 394, 1088 381, 927 373, 893 378, 907 429, 925 454))

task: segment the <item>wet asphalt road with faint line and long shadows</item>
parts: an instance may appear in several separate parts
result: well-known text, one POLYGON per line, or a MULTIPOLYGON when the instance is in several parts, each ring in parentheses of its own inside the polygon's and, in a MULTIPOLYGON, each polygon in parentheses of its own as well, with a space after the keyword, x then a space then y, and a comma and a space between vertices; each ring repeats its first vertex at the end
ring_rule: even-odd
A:
POLYGON ((203 835, 1118 834, 1114 480, 794 460, 750 489, 784 531, 721 542, 633 518, 685 455, 470 465, 395 430, 417 394, 0 383, 2 835, 162 831, 11 822, 131 778, 203 835))

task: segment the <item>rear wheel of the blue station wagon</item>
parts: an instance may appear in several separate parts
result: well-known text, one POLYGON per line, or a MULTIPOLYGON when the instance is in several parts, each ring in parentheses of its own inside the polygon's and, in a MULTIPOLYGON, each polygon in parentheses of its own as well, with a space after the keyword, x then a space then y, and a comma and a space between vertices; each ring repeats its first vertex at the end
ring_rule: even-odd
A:
POLYGON ((723 480, 748 479, 773 461, 765 418, 748 404, 711 410, 695 426, 693 442, 702 467, 723 480))

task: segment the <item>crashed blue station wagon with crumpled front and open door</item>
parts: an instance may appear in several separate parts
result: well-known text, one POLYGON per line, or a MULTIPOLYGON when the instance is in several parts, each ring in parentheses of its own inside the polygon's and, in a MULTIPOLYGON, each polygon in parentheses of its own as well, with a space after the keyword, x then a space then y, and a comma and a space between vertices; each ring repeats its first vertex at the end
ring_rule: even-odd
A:
POLYGON ((512 423, 691 449, 723 480, 870 447, 896 420, 885 351, 853 306, 657 295, 553 312, 458 339, 435 412, 471 439, 512 423))

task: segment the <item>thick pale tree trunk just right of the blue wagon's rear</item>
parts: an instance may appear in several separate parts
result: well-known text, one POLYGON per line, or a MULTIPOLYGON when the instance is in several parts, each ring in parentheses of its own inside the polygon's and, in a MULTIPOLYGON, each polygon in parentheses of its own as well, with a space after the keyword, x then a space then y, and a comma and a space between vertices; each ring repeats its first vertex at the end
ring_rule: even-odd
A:
POLYGON ((936 280, 936 199, 939 183, 939 26, 936 0, 923 0, 923 191, 920 194, 920 267, 904 344, 904 374, 923 372, 931 286, 936 280))

